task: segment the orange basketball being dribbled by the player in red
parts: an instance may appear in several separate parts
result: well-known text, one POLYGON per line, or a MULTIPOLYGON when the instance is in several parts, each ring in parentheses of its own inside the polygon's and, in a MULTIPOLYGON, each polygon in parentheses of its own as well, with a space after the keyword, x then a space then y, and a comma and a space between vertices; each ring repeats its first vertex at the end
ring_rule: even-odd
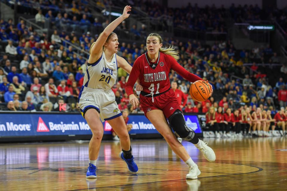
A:
POLYGON ((191 84, 189 93, 194 101, 205 101, 210 97, 210 87, 206 81, 198 80, 191 84))

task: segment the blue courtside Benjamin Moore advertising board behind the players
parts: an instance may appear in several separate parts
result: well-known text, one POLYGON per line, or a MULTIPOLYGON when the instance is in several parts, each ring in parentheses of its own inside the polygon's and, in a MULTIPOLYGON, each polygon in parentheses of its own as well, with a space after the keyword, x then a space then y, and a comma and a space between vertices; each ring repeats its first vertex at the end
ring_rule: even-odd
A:
MULTIPOLYGON (((196 133, 202 133, 197 115, 185 115, 187 126, 196 133)), ((144 115, 129 115, 132 124, 130 134, 158 133, 144 115)), ((111 126, 103 123, 104 134, 111 134, 111 126)), ((43 136, 43 135, 91 135, 91 130, 82 117, 77 114, 44 113, 1 113, 0 137, 43 136)))

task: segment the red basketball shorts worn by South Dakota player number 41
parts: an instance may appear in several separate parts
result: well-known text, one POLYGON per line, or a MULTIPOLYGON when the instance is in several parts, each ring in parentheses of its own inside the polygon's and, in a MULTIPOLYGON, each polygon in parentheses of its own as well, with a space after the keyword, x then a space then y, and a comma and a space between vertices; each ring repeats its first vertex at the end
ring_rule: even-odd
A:
POLYGON ((152 97, 147 97, 140 94, 140 103, 144 111, 144 115, 151 110, 162 110, 165 117, 169 118, 170 115, 175 112, 175 110, 181 110, 172 89, 159 96, 154 96, 153 99, 154 102, 152 102, 152 97))

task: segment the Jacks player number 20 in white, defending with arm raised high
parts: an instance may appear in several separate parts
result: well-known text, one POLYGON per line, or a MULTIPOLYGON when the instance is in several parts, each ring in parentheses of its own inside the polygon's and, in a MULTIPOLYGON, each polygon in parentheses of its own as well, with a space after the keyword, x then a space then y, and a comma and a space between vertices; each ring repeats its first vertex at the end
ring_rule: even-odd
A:
MULTIPOLYGON (((124 58, 116 55, 119 42, 117 35, 112 32, 129 17, 129 11, 131 7, 126 6, 123 14, 104 29, 90 48, 84 83, 78 99, 81 113, 93 133, 89 144, 89 166, 86 178, 97 178, 96 162, 103 137, 101 121, 108 121, 119 136, 122 147, 120 158, 127 163, 131 172, 138 171, 132 156, 126 124, 111 90, 117 79, 117 67, 123 68, 127 73, 132 70, 124 58)), ((142 87, 138 86, 137 90, 142 90, 142 87)))

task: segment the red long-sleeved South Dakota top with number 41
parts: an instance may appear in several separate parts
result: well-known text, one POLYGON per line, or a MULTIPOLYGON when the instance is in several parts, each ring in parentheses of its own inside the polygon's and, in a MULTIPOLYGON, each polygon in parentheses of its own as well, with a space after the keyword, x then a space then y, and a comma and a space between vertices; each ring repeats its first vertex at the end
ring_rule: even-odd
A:
POLYGON ((134 62, 126 84, 126 93, 128 96, 133 94, 133 87, 137 79, 145 93, 154 95, 166 92, 170 89, 169 73, 171 69, 190 82, 202 80, 185 70, 172 56, 159 52, 157 61, 151 62, 146 52, 134 62))

